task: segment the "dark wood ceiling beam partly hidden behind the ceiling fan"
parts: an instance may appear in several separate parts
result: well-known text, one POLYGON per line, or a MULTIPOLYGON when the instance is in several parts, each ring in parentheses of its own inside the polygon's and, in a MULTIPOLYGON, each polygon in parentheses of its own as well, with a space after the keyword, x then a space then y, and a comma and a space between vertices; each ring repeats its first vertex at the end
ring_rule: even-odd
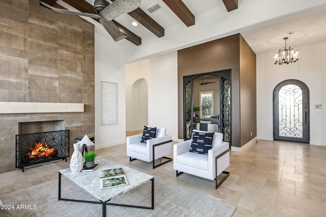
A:
MULTIPOLYGON (((89 4, 86 1, 82 0, 63 0, 68 5, 72 6, 73 8, 77 9, 80 12, 84 13, 91 13, 94 14, 94 6, 89 4)), ((97 22, 99 22, 98 19, 95 19, 97 22)), ((127 40, 135 45, 142 44, 142 40, 137 35, 133 34, 131 31, 129 31, 126 27, 122 26, 120 23, 114 21, 114 23, 118 26, 119 30, 127 36, 127 40)))

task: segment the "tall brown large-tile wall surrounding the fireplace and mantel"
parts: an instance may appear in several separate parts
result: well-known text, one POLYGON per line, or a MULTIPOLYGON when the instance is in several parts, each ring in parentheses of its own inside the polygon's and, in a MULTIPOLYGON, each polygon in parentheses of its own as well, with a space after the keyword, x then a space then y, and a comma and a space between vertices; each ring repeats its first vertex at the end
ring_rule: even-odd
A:
MULTIPOLYGON (((15 170, 19 122, 65 120, 75 138, 94 136, 94 25, 39 0, 0 0, 0 102, 84 103, 84 112, 0 114, 0 173, 15 170)), ((60 7, 56 5, 56 7, 60 7)))

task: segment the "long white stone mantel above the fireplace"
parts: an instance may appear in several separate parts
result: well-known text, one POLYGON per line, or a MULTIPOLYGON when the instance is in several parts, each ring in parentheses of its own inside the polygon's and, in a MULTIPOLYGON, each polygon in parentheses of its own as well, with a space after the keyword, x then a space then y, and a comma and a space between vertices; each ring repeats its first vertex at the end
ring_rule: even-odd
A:
POLYGON ((84 112, 84 103, 0 102, 0 114, 84 112))

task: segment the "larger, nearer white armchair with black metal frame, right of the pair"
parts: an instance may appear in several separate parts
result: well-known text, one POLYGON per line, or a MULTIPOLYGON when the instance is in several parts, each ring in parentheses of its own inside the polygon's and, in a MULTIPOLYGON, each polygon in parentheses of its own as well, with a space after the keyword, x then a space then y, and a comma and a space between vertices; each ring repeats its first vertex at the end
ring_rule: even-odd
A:
MULTIPOLYGON (((194 132, 205 131, 194 130, 194 132)), ((191 144, 192 139, 189 139, 173 145, 173 169, 176 170, 176 176, 188 173, 210 180, 215 179, 217 189, 230 175, 224 171, 230 164, 229 143, 223 142, 222 133, 214 133, 212 148, 208 150, 208 154, 190 152, 191 144), (221 173, 225 176, 218 181, 221 173)))

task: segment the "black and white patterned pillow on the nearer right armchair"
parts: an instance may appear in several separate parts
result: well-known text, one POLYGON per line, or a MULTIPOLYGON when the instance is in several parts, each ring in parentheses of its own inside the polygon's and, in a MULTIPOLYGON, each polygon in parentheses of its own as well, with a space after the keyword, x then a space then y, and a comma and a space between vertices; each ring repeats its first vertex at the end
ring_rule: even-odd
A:
POLYGON ((212 148, 214 133, 193 132, 190 152, 208 154, 212 148))

